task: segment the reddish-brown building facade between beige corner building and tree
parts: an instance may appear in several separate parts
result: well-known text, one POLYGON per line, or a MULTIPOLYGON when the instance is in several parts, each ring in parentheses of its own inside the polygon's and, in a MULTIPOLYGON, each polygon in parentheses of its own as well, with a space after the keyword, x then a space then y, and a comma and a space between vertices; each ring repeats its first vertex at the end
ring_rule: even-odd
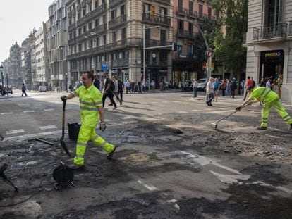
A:
POLYGON ((206 20, 212 20, 216 24, 218 19, 210 1, 202 0, 174 0, 174 17, 173 38, 177 48, 173 54, 172 81, 176 86, 180 82, 206 77, 202 70, 202 57, 195 53, 197 40, 202 40, 197 27, 202 28, 202 23, 206 20))

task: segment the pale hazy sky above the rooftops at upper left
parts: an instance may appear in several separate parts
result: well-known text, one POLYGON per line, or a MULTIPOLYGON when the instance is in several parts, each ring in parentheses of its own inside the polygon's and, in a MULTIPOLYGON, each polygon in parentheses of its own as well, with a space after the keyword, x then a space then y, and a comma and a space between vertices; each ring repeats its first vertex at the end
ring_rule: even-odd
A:
POLYGON ((35 27, 49 19, 48 8, 54 0, 1 1, 0 63, 9 57, 12 44, 21 45, 35 27))

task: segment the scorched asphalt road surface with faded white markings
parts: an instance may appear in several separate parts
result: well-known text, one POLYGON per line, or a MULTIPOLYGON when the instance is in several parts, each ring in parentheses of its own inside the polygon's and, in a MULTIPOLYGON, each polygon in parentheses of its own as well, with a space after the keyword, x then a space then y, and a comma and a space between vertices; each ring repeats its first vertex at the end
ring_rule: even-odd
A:
MULTIPOLYGON (((90 144, 75 187, 55 190, 54 168, 72 163, 59 144, 63 94, 1 97, 0 164, 20 190, 0 181, 0 218, 292 218, 292 132, 276 111, 267 131, 255 129, 260 104, 211 125, 242 96, 210 107, 204 93, 126 94, 116 110, 105 107, 107 130, 97 129, 118 146, 114 158, 90 144)), ((66 122, 79 122, 77 98, 66 122)))

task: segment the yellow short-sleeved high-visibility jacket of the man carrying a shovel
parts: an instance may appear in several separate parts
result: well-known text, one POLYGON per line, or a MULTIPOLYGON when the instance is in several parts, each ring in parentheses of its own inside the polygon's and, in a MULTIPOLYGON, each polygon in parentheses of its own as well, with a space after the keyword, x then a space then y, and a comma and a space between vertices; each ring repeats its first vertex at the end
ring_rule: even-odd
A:
POLYGON ((94 85, 83 85, 73 92, 79 97, 81 125, 96 127, 99 122, 98 106, 102 106, 102 93, 94 85))

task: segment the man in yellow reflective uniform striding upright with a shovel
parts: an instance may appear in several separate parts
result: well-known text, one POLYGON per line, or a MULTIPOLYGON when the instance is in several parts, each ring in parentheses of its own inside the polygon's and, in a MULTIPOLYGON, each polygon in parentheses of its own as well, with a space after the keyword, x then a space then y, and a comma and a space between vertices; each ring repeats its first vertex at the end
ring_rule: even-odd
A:
POLYGON ((107 152, 108 159, 111 159, 116 150, 116 146, 105 142, 95 132, 95 127, 99 120, 99 130, 102 130, 102 132, 107 128, 107 125, 104 123, 102 93, 92 84, 94 80, 93 73, 91 71, 85 71, 82 75, 82 80, 83 85, 78 87, 75 92, 68 94, 68 96, 61 96, 62 101, 72 99, 75 96, 78 96, 80 101, 81 127, 77 139, 76 153, 73 161, 74 165, 71 167, 73 169, 84 167, 84 155, 89 140, 97 146, 102 146, 102 149, 107 152))

